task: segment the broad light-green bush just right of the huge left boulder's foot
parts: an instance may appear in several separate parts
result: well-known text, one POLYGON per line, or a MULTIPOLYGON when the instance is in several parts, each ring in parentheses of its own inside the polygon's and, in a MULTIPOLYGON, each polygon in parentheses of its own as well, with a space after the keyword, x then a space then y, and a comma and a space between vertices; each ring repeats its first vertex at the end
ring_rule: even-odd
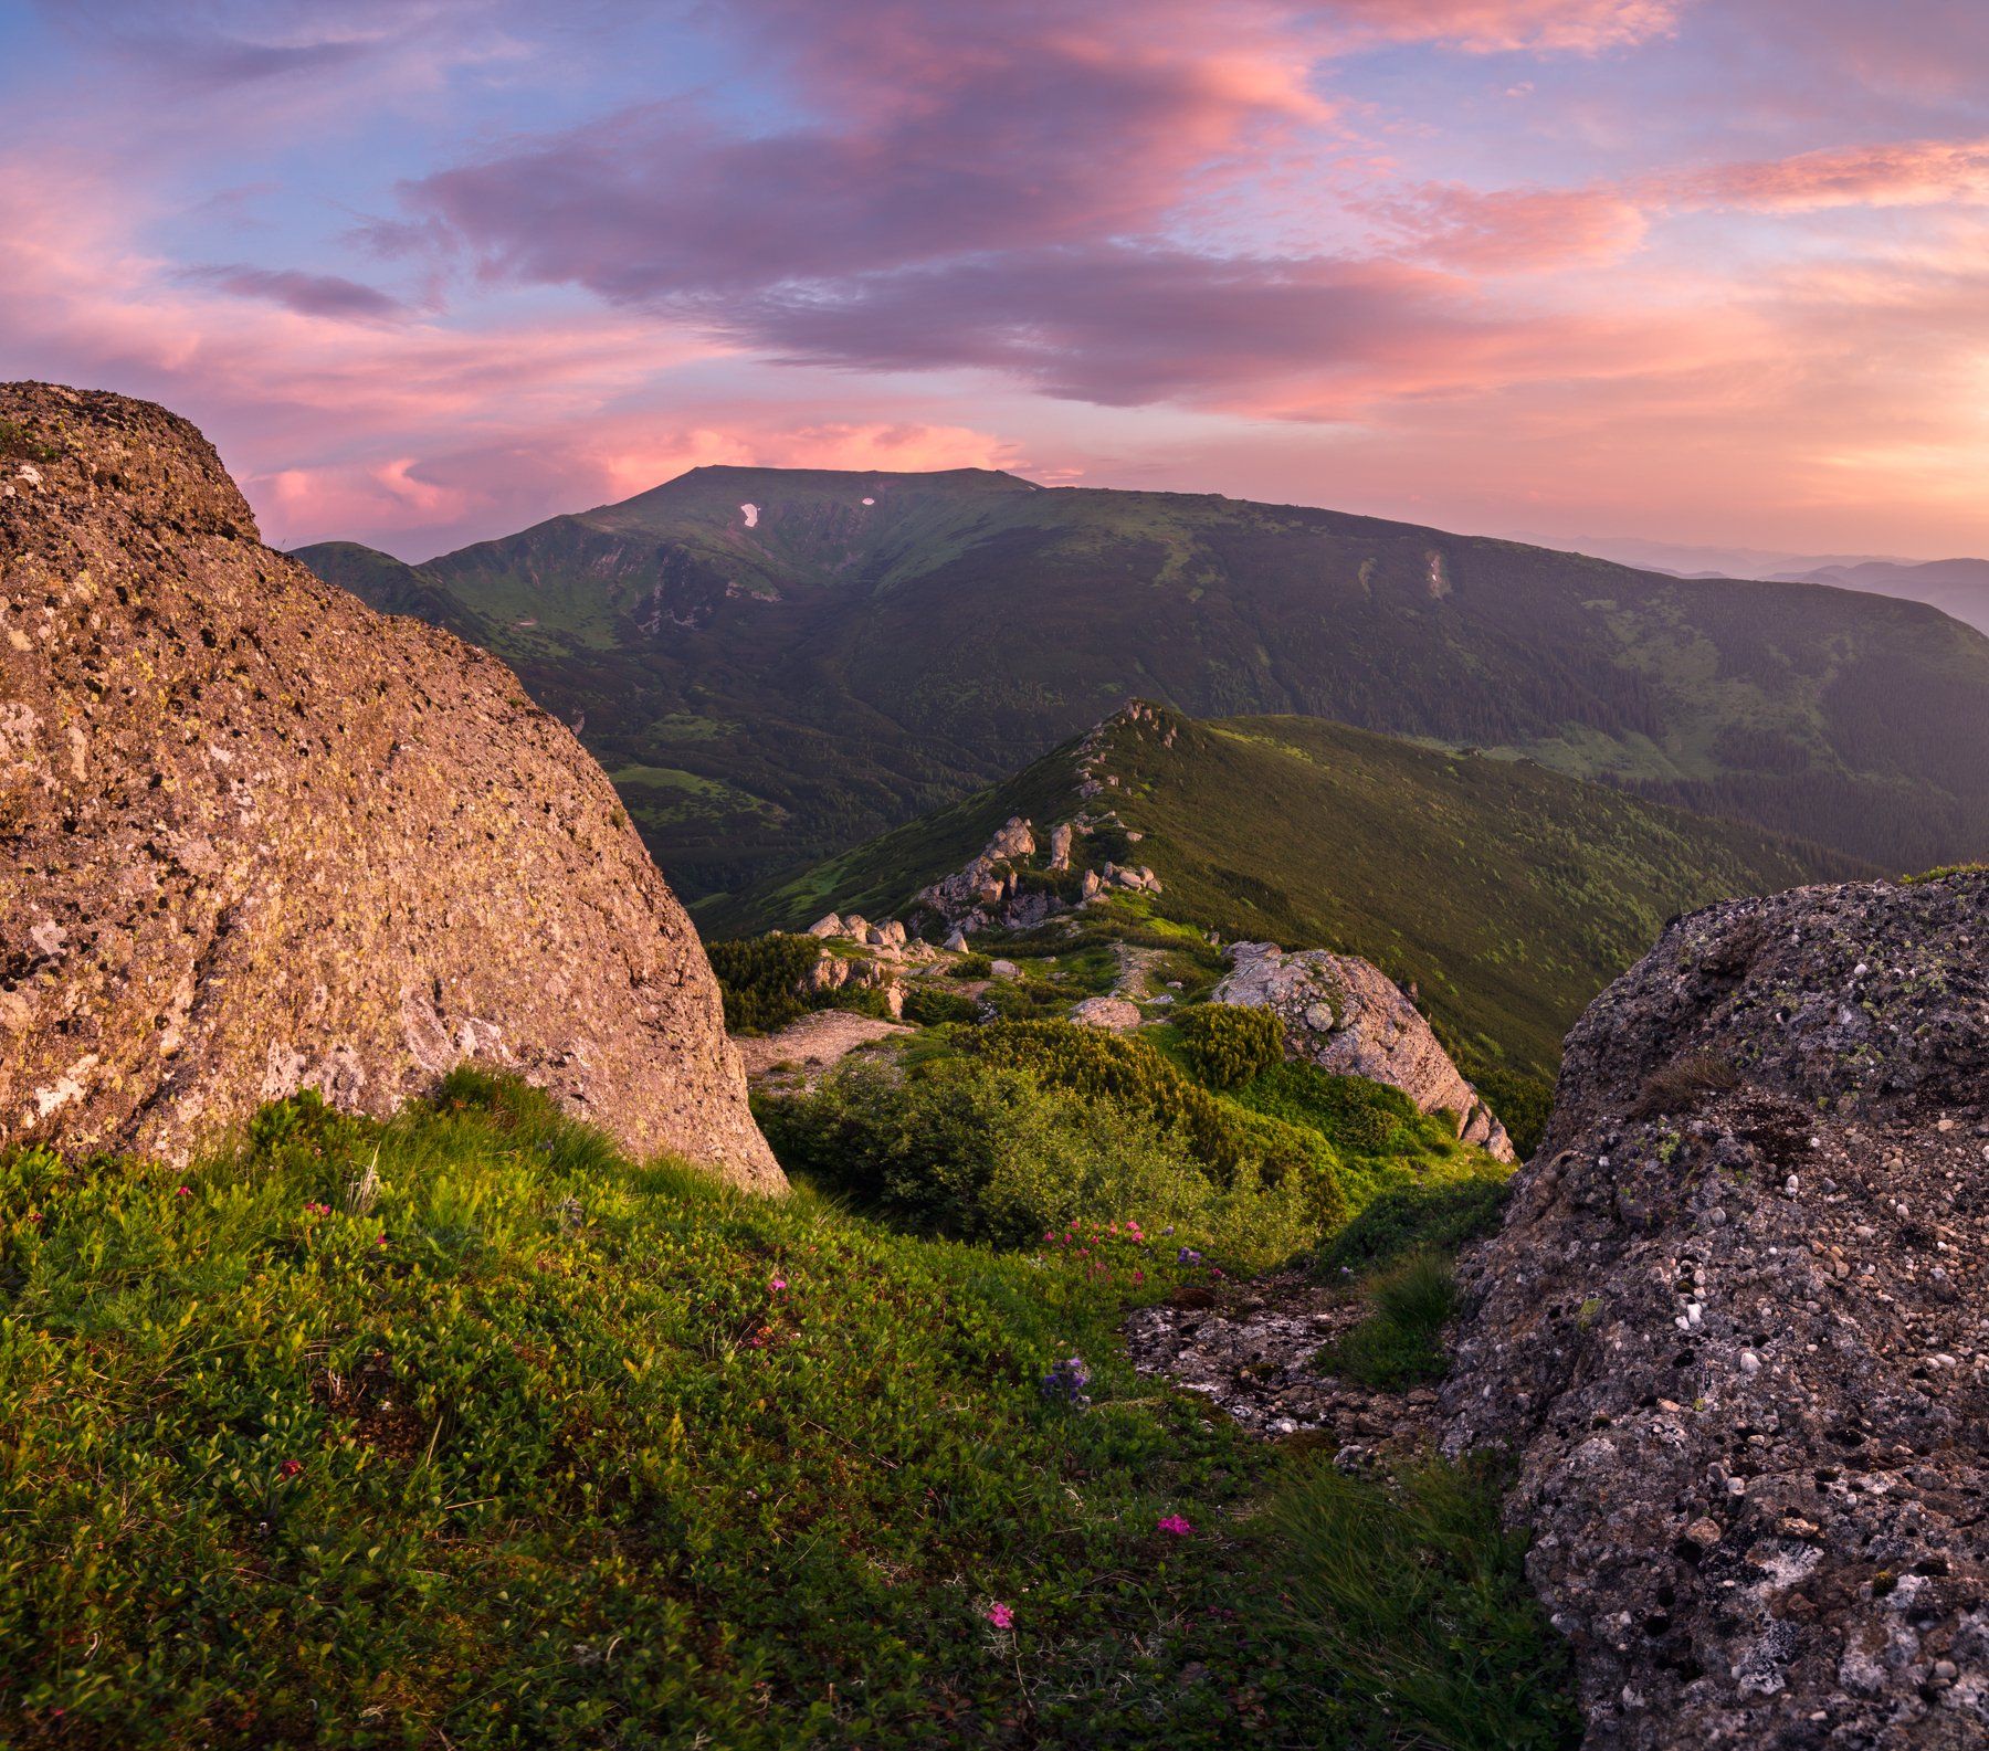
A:
POLYGON ((1277 1264, 1321 1232, 1297 1175, 1215 1183, 1152 1115, 981 1057, 909 1077, 847 1063, 756 1113, 790 1173, 921 1234, 1024 1246, 1074 1220, 1130 1216, 1241 1264, 1277 1264))

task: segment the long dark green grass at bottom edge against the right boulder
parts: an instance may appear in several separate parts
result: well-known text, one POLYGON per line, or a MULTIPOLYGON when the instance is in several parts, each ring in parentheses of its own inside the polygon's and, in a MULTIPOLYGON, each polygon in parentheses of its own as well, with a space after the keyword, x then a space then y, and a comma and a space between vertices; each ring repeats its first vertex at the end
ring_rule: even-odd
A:
POLYGON ((1502 1487, 1490 1463, 1430 1461, 1390 1483, 1309 1469, 1273 1497, 1291 1622, 1388 1717, 1355 1743, 1577 1743, 1567 1648, 1526 1586, 1526 1538, 1500 1524, 1502 1487))

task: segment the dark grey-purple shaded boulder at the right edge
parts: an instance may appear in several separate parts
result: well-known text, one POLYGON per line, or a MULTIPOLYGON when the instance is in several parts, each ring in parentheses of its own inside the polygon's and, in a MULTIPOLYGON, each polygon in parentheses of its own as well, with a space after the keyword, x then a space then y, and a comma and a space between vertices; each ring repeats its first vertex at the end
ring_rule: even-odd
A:
POLYGON ((1466 1256, 1591 1747, 1989 1743, 1989 875, 1675 922, 1466 1256))

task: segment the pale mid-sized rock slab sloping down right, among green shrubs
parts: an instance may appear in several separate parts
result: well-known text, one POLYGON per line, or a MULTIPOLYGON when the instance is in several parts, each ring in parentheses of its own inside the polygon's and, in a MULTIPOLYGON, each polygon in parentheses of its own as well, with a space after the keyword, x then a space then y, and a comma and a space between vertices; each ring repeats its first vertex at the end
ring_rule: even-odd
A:
POLYGON ((1285 954, 1271 942, 1229 950, 1229 976, 1213 1002, 1275 1010, 1285 1049, 1335 1075, 1364 1075, 1408 1095, 1424 1113, 1446 1111, 1458 1135, 1500 1161, 1512 1139, 1438 1043, 1402 988, 1372 962, 1309 948, 1285 954))

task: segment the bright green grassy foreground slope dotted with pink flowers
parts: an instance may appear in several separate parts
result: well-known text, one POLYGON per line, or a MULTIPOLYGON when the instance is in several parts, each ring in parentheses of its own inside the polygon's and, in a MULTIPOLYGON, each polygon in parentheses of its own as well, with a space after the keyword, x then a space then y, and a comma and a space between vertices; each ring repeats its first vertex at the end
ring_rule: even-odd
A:
MULTIPOLYGON (((271 1109, 183 1171, 16 1151, 4 1737, 1490 1743, 1402 1737, 1323 1634, 1319 1514, 1257 1514, 1275 1457, 1120 1359, 1185 1268, 1080 1238, 754 1200, 469 1073, 388 1123, 271 1109), (1088 1407, 1038 1391, 1070 1353, 1088 1407)), ((1444 1528, 1390 1524, 1410 1630, 1476 1626, 1444 1528)), ((1530 1646, 1456 1664, 1482 1721, 1537 1715, 1530 1646)))

